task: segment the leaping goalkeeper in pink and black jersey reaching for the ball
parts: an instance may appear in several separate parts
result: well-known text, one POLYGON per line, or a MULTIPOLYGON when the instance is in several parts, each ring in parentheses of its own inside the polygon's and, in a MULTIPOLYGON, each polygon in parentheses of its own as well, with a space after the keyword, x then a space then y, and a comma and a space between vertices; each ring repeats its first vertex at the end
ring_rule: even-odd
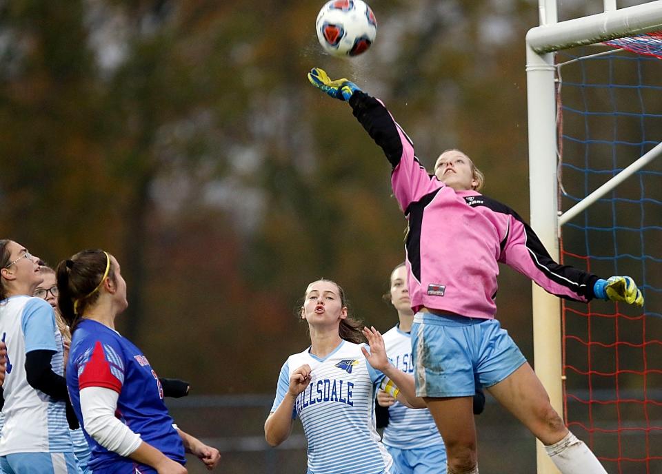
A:
POLYGON ((308 80, 349 103, 392 166, 393 193, 409 227, 405 249, 415 312, 416 391, 445 442, 448 474, 478 473, 474 376, 541 440, 561 473, 605 473, 590 449, 568 431, 540 380, 494 318, 496 276, 502 262, 561 298, 643 306, 634 280, 603 280, 554 262, 516 212, 479 193, 483 174, 463 152, 443 152, 430 175, 381 101, 346 79, 332 81, 319 68, 308 80))

